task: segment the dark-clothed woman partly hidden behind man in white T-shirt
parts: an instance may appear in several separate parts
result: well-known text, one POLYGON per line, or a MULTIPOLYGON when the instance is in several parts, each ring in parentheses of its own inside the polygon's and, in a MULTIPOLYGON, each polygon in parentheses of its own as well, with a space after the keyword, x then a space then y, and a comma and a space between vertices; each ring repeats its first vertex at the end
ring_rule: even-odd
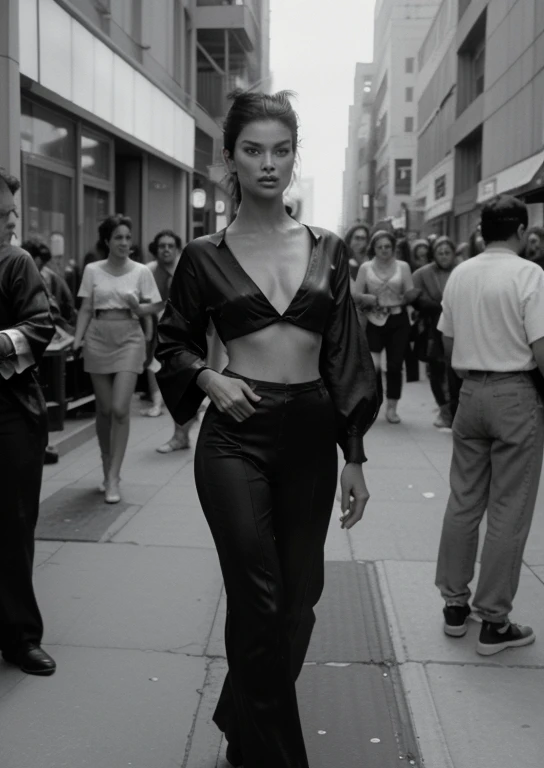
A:
POLYGON ((431 391, 439 407, 435 427, 451 427, 457 404, 461 379, 446 362, 442 334, 437 329, 442 314, 442 296, 456 266, 455 243, 443 235, 433 244, 433 261, 413 274, 414 286, 420 293, 415 307, 424 321, 425 358, 429 366, 431 391))

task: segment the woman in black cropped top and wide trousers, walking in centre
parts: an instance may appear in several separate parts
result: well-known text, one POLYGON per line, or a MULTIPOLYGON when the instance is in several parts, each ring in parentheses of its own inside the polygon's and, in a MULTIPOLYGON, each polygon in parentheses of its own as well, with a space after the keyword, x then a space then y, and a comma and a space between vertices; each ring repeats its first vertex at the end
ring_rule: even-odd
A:
POLYGON ((211 400, 195 479, 227 593, 229 672, 214 714, 227 758, 308 768, 295 680, 323 589, 336 441, 350 528, 368 501, 363 435, 376 381, 343 241, 284 208, 298 142, 289 94, 231 98, 223 139, 237 216, 183 251, 159 323, 157 379, 180 424, 211 400), (210 317, 228 351, 222 373, 205 365, 210 317))

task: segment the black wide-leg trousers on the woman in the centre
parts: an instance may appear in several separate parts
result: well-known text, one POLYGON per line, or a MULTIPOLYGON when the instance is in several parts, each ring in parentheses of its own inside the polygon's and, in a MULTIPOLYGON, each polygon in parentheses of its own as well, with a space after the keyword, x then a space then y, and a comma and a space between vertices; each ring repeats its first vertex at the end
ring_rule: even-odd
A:
POLYGON ((212 403, 195 452, 227 593, 229 672, 214 721, 241 750, 244 768, 308 768, 295 680, 323 590, 335 413, 321 379, 239 378, 262 398, 255 414, 236 422, 212 403))

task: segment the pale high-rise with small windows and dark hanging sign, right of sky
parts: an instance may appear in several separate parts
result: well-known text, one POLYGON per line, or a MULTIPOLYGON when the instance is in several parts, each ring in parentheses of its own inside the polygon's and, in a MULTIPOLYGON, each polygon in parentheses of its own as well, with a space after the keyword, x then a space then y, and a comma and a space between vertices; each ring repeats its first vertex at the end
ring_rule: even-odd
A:
POLYGON ((376 0, 374 220, 409 227, 417 150, 418 51, 440 0, 376 0))

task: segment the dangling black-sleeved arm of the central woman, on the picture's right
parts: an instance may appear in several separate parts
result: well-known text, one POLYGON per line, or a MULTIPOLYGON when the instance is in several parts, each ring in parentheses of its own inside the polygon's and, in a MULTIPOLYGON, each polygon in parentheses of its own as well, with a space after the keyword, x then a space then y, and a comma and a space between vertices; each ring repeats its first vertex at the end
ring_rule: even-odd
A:
POLYGON ((366 461, 363 436, 374 423, 380 403, 374 363, 350 293, 345 246, 338 239, 330 248, 334 249, 333 305, 323 332, 320 371, 334 404, 337 442, 346 460, 340 520, 343 528, 351 528, 361 519, 369 498, 362 471, 366 461))

